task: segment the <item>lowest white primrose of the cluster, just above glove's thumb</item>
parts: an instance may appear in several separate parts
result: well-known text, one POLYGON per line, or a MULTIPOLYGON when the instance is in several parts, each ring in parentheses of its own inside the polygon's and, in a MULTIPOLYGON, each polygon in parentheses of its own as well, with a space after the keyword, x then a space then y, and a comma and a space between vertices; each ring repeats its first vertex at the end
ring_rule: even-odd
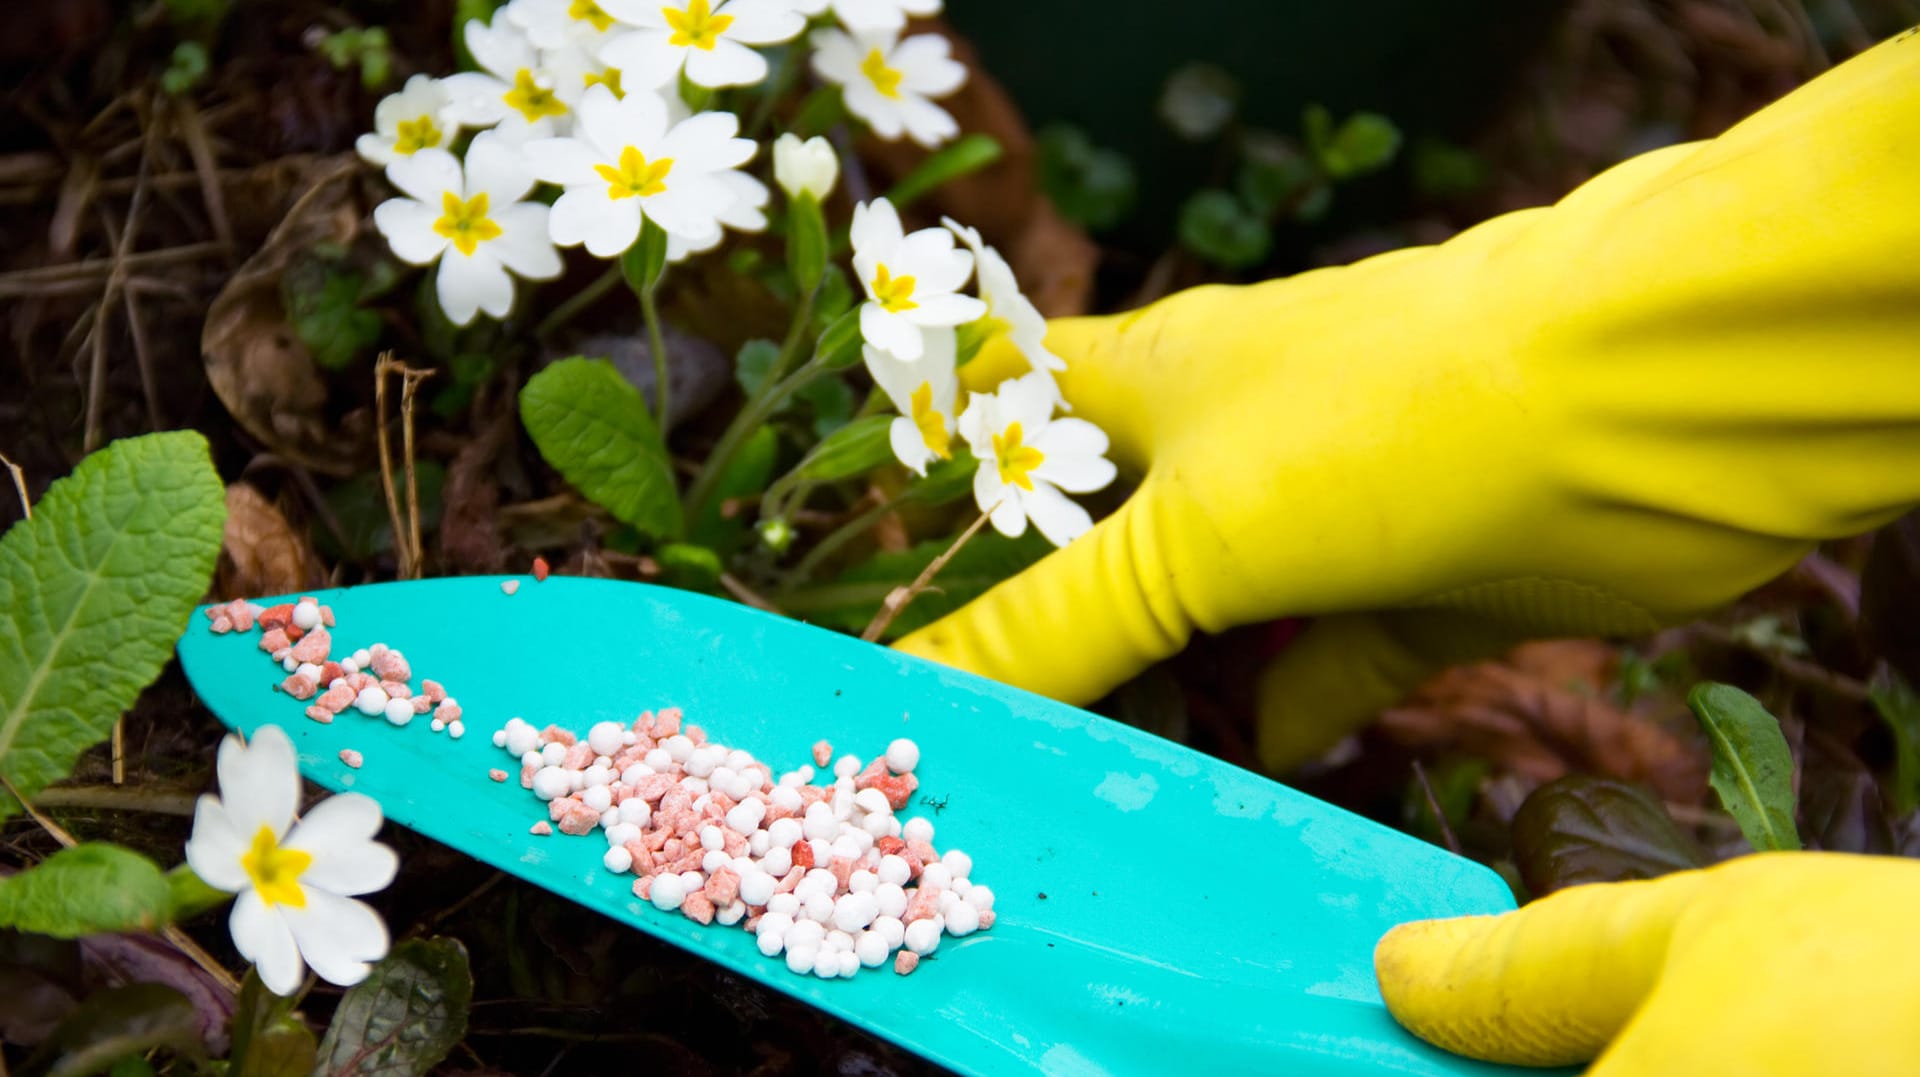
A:
POLYGON ((1052 388, 1039 374, 1000 382, 993 394, 973 394, 960 415, 979 470, 973 501, 993 515, 993 528, 1020 538, 1027 520, 1054 545, 1092 528, 1092 516, 1068 493, 1091 493, 1114 482, 1106 432, 1085 419, 1050 419, 1052 388))

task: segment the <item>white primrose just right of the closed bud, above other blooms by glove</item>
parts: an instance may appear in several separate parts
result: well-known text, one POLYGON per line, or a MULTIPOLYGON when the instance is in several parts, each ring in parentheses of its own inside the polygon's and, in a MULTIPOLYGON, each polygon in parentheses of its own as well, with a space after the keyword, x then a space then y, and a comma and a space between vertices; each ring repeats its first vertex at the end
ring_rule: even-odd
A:
POLYGON ((945 228, 900 232, 900 215, 885 198, 852 207, 852 271, 866 288, 860 336, 895 359, 924 353, 920 328, 970 323, 987 303, 960 296, 973 273, 973 255, 954 250, 945 228))

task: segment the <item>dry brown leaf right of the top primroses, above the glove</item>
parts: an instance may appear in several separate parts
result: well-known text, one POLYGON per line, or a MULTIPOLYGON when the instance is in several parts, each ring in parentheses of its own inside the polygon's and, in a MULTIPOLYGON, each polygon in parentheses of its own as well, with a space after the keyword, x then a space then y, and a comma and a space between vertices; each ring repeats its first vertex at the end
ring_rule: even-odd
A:
MULTIPOLYGON (((973 46, 945 23, 927 29, 947 36, 954 60, 968 65, 966 84, 950 98, 941 98, 941 108, 952 113, 960 131, 991 134, 1002 150, 1002 157, 991 167, 929 194, 927 207, 979 228, 1000 248, 1021 290, 1043 315, 1085 315, 1092 301, 1100 248, 1087 232, 1062 219, 1041 192, 1033 132, 1014 98, 985 73, 973 46)), ((927 159, 925 150, 904 140, 868 138, 860 150, 862 157, 893 179, 927 159)))

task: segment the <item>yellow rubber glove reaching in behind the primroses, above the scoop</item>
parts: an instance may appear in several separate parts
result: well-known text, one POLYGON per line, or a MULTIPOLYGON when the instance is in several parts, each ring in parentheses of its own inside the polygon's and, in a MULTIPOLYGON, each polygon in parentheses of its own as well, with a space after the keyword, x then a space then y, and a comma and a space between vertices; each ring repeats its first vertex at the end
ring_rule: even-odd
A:
POLYGON ((1260 685, 1286 768, 1446 664, 1693 618, 1920 501, 1920 38, 1559 205, 1046 342, 1144 480, 900 647, 1089 703, 1315 614, 1260 685))

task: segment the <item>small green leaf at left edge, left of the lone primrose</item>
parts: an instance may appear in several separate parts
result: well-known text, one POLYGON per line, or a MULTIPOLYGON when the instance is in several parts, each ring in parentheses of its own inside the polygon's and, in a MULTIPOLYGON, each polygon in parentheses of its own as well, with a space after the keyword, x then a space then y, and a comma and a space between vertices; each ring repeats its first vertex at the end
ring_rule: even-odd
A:
POLYGON ((167 921, 171 891, 157 864, 131 849, 86 841, 0 879, 0 927, 54 939, 152 931, 167 921))

